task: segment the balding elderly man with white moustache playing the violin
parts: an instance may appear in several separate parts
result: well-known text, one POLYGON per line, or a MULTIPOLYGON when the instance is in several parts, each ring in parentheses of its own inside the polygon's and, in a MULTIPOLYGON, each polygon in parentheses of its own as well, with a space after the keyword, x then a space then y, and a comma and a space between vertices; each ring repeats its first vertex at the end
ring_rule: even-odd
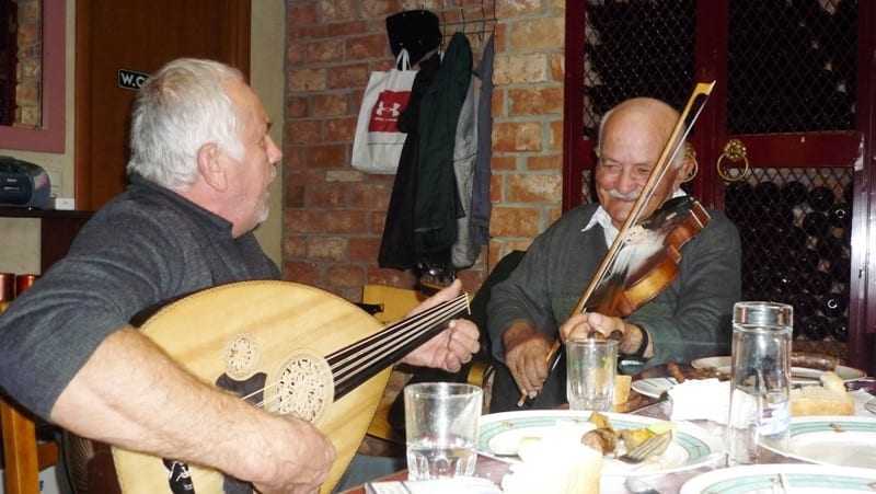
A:
MULTIPOLYGON (((565 366, 549 369, 556 338, 620 334, 619 358, 646 367, 727 352, 734 302, 740 297, 740 242, 719 211, 681 250, 678 275, 654 299, 626 317, 596 311, 569 317, 598 269, 672 135, 679 113, 666 103, 637 97, 607 112, 599 128, 596 192, 599 204, 563 215, 530 245, 487 307, 497 366, 492 412, 554 407, 565 403, 565 366)), ((684 145, 687 146, 687 143, 684 145)), ((647 218, 683 196, 680 185, 695 163, 679 152, 654 188, 647 218)))

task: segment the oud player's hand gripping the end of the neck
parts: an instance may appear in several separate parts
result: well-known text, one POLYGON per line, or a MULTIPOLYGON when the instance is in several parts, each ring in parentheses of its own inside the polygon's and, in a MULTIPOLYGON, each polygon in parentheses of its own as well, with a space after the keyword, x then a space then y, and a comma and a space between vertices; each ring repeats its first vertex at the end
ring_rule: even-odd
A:
MULTIPOLYGON (((461 289, 462 284, 457 279, 449 287, 426 299, 408 315, 423 312, 441 302, 453 300, 459 296, 461 289)), ((435 367, 456 372, 464 364, 469 363, 472 359, 472 355, 481 348, 477 342, 479 335, 477 326, 473 322, 465 319, 454 319, 450 321, 445 331, 419 345, 407 354, 402 361, 412 366, 435 367)))

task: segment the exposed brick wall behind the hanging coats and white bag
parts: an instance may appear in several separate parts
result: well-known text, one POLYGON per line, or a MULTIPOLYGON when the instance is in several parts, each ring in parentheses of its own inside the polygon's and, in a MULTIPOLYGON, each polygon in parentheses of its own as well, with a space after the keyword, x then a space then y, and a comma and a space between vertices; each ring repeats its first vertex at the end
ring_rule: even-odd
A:
MULTIPOLYGON (((393 176, 349 165, 356 117, 372 70, 392 66, 387 15, 429 9, 454 30, 492 16, 493 0, 288 0, 284 136, 284 276, 359 300, 366 283, 410 287, 377 255, 393 176), (456 23, 449 25, 451 23, 456 23)), ((493 217, 489 249, 460 273, 475 290, 488 268, 525 249, 562 203, 563 0, 496 0, 493 217)), ((470 35, 480 60, 481 36, 470 35)))

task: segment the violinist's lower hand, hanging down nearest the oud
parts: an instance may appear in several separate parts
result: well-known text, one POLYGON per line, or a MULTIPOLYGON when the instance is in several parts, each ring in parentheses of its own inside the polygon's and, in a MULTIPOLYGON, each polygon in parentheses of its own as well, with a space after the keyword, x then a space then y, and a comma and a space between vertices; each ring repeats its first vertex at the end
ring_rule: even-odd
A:
POLYGON ((548 354, 551 341, 526 322, 511 324, 503 335, 505 365, 522 394, 535 398, 548 379, 548 354))

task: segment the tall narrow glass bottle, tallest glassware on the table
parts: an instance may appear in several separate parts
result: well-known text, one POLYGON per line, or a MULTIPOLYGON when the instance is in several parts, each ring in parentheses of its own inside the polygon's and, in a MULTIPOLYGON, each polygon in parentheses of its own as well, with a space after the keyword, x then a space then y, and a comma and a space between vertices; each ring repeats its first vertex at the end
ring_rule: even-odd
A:
POLYGON ((758 463, 760 445, 787 447, 793 311, 775 302, 734 306, 729 464, 758 463))

